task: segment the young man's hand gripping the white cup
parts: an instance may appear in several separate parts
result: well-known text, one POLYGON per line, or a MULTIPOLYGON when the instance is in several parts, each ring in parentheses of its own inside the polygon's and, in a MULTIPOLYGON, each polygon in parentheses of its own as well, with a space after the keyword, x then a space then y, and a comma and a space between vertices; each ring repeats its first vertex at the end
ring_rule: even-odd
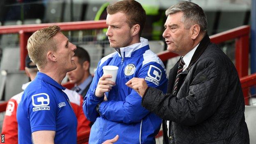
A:
POLYGON ((112 89, 110 85, 116 85, 115 82, 112 82, 111 80, 105 80, 106 78, 112 78, 112 75, 102 75, 102 77, 99 79, 95 90, 95 96, 99 98, 104 96, 105 92, 108 92, 112 89))

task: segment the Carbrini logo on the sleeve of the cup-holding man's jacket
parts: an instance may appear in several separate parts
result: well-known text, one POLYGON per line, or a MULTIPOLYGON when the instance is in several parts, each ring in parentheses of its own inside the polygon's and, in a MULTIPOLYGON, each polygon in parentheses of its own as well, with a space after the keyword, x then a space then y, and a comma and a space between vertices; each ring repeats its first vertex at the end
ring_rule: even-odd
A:
POLYGON ((153 65, 149 66, 148 77, 146 76, 145 80, 153 82, 155 85, 159 85, 159 81, 161 80, 162 71, 153 65))

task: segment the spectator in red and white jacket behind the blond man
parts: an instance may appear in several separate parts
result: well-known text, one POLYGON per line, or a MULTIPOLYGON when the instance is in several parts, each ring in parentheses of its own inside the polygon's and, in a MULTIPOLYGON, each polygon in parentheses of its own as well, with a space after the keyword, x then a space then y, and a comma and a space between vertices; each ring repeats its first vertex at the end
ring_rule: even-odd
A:
MULTIPOLYGON (((25 59, 25 72, 31 80, 37 75, 37 66, 30 60, 30 58, 26 57, 25 59)), ((24 90, 30 82, 24 84, 22 89, 24 90)), ((85 130, 89 130, 89 121, 85 118, 85 114, 82 111, 82 103, 83 99, 77 92, 65 89, 64 92, 69 97, 71 106, 75 112, 75 116, 78 119, 78 127, 77 132, 81 133, 85 130)), ((5 143, 7 144, 18 144, 18 123, 16 119, 16 111, 18 107, 18 103, 21 101, 21 96, 23 91, 15 96, 13 96, 7 104, 5 119, 3 121, 2 126, 2 134, 5 134, 5 143)))

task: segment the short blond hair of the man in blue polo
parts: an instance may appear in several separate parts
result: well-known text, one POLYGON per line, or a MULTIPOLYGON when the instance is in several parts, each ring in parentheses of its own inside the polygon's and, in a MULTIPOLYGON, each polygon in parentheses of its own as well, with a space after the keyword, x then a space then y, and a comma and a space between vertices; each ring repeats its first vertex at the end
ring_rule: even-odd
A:
POLYGON ((27 52, 39 69, 47 63, 46 54, 49 50, 56 51, 56 42, 53 37, 60 31, 60 27, 52 25, 34 32, 27 40, 27 52))

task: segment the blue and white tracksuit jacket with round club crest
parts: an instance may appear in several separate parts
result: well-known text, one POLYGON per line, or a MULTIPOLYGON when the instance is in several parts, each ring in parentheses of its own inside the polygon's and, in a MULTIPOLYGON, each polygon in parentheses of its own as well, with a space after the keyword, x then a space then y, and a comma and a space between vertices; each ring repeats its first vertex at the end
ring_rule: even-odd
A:
POLYGON ((141 105, 141 96, 125 85, 133 77, 145 78, 149 87, 156 87, 164 93, 167 90, 165 66, 159 57, 149 49, 148 40, 120 48, 103 57, 98 63, 91 86, 83 103, 87 119, 94 121, 89 144, 101 144, 106 139, 119 135, 115 144, 154 144, 161 121, 155 114, 141 105), (107 101, 95 96, 99 78, 105 65, 118 66, 116 85, 105 93, 107 101), (96 105, 100 104, 99 112, 96 105))

